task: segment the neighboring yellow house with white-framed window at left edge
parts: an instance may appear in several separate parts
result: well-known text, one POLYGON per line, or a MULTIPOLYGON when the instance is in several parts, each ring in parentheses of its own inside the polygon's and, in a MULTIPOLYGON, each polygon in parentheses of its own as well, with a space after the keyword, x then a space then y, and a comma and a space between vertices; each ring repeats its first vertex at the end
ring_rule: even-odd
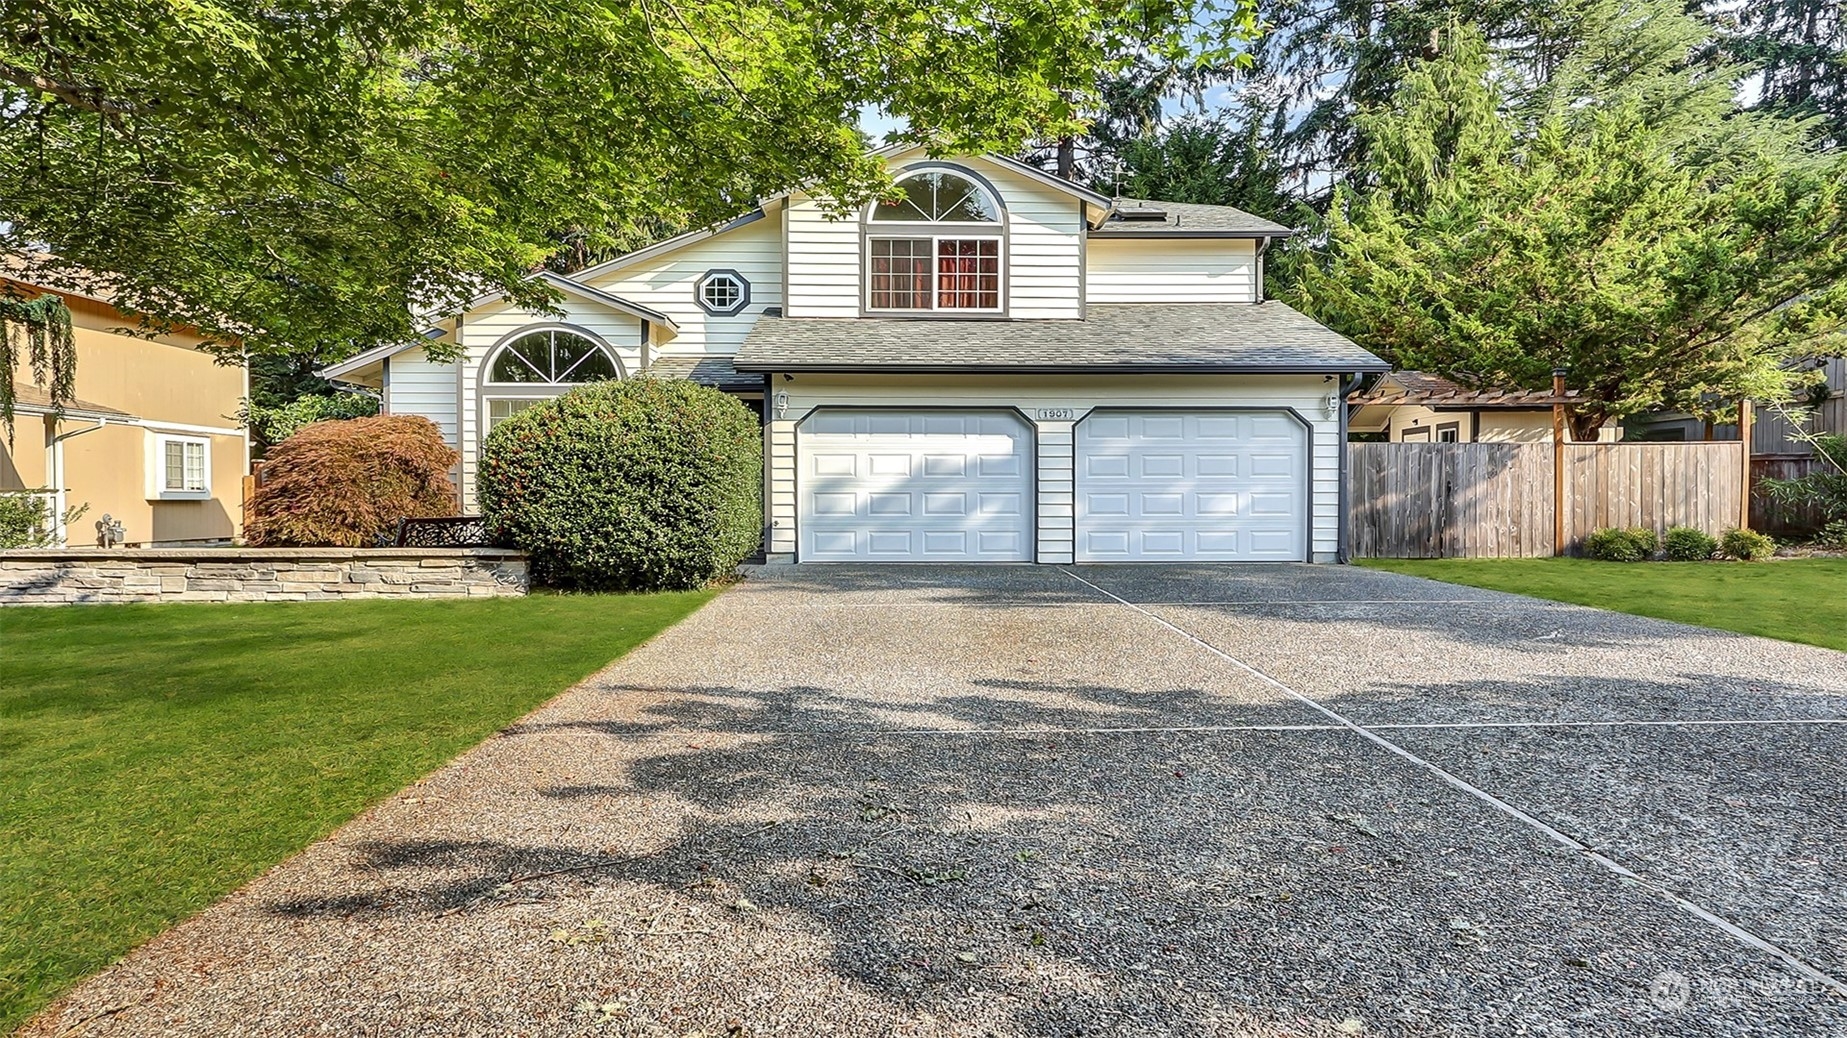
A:
MULTIPOLYGON (((183 331, 137 334, 107 301, 18 279, 26 296, 55 292, 70 307, 78 399, 54 417, 42 386, 13 371, 13 438, 0 436, 0 493, 44 489, 54 519, 89 506, 63 543, 96 543, 96 523, 122 523, 126 545, 205 545, 242 534, 249 440, 236 408, 247 369, 220 364, 183 331)), ((24 360, 24 358, 22 358, 24 360)))

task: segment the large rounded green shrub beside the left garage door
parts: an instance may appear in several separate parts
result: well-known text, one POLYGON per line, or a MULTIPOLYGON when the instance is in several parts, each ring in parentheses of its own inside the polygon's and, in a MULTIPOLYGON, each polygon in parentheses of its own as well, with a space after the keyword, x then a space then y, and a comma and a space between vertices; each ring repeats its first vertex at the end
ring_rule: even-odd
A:
POLYGON ((495 427, 477 499, 539 584, 702 587, 763 539, 763 428, 694 382, 597 382, 495 427))

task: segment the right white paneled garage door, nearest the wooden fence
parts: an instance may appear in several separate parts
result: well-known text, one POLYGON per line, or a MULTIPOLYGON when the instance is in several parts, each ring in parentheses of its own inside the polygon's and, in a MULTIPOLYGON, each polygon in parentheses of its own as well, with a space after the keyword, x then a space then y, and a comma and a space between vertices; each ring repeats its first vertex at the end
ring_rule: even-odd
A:
POLYGON ((1099 410, 1075 460, 1077 561, 1308 558, 1308 430, 1287 412, 1099 410))

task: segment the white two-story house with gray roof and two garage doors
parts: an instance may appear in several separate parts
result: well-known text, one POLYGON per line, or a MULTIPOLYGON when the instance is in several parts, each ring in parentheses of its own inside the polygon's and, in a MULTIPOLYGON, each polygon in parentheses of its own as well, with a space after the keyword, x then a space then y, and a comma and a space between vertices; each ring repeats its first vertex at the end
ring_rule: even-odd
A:
POLYGON ((323 375, 421 414, 471 510, 495 423, 595 379, 694 379, 765 421, 772 561, 1332 561, 1348 379, 1385 364, 1263 301, 1287 227, 999 157, 879 151, 898 194, 789 192, 482 297, 323 375))

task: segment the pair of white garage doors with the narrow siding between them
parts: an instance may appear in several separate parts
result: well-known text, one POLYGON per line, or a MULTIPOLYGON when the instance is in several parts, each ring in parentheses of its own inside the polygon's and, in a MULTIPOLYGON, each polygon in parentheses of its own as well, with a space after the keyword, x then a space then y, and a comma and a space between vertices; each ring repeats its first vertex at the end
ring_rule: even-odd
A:
POLYGON ((1310 430, 1286 408, 1097 408, 1047 434, 1016 408, 824 406, 794 445, 800 561, 1032 561, 1047 523, 1075 561, 1308 560, 1310 430))

